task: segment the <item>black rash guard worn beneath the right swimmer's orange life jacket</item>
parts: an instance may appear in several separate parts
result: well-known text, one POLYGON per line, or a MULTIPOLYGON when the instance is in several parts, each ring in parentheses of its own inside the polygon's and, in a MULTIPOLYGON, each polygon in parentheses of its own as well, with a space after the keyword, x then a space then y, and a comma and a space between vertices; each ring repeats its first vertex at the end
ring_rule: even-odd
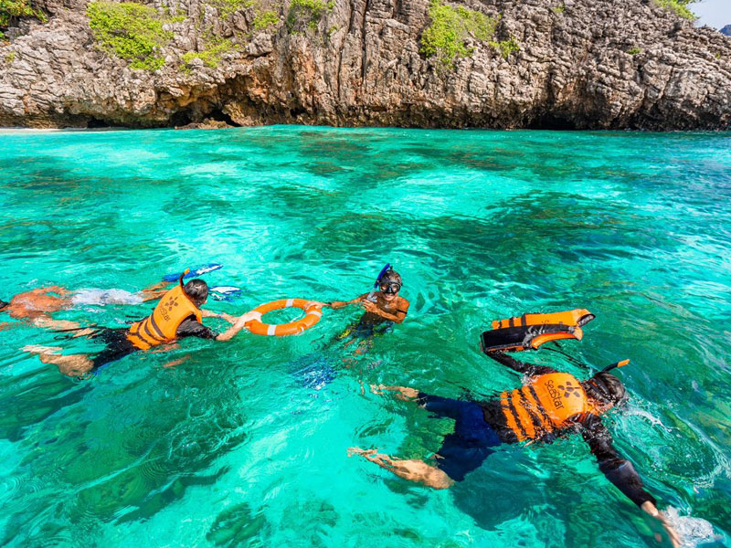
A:
MULTIPOLYGON (((523 362, 518 362, 511 356, 504 353, 491 352, 487 353, 487 355, 500 364, 510 367, 514 371, 527 376, 556 373, 556 369, 553 367, 524 364, 523 362)), ((517 437, 515 437, 513 430, 507 427, 503 408, 499 401, 491 400, 483 402, 482 412, 485 422, 493 427, 504 443, 517 442, 517 437)), ((611 481, 617 489, 622 491, 622 493, 624 493, 630 501, 634 502, 638 506, 641 506, 642 503, 646 501, 651 501, 652 504, 657 505, 657 502, 652 495, 642 489, 642 480, 632 466, 632 463, 626 458, 621 458, 617 449, 612 446, 612 439, 609 434, 609 430, 607 430, 607 427, 605 427, 601 422, 601 418, 599 416, 592 414, 588 414, 583 417, 575 416, 573 417, 572 425, 570 427, 563 428, 556 434, 560 436, 562 434, 570 434, 572 431, 581 434, 584 441, 588 443, 591 453, 597 458, 597 461, 599 462, 599 470, 601 470, 607 479, 609 479, 609 481, 611 481)), ((551 434, 541 438, 540 441, 550 443, 554 439, 556 439, 556 435, 551 434)))

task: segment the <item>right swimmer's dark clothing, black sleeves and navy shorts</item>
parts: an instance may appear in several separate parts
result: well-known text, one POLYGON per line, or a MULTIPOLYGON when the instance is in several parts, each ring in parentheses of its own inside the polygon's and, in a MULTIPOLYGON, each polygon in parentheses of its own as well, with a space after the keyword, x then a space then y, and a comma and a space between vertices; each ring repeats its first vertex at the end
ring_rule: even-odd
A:
MULTIPOLYGON (((552 367, 523 364, 504 353, 488 355, 514 371, 529 376, 556 373, 552 367)), ((455 481, 461 481, 467 473, 478 469, 484 459, 493 453, 493 448, 501 443, 518 441, 514 431, 506 424, 503 408, 498 400, 474 403, 419 393, 418 402, 436 416, 455 420, 454 432, 444 437, 437 453, 441 458, 437 458, 436 464, 455 481)), ((638 506, 645 501, 656 503, 652 495, 642 489, 642 481, 632 463, 621 458, 612 446, 609 430, 602 424, 599 416, 576 416, 571 426, 563 428, 557 434, 560 436, 574 431, 579 432, 588 443, 599 462, 599 469, 630 501, 638 506)), ((540 441, 550 443, 554 439, 555 435, 549 435, 540 441)))

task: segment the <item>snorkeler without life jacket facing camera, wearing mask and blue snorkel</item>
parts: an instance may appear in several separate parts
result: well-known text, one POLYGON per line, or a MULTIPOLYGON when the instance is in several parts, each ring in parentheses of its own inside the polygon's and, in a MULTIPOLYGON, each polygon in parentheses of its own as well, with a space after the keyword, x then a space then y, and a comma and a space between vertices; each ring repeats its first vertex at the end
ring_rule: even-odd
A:
MULTIPOLYGON (((403 285, 401 276, 398 275, 396 270, 390 268, 390 266, 388 267, 376 280, 378 291, 364 293, 353 300, 334 300, 332 302, 313 300, 308 304, 330 307, 334 310, 348 305, 360 306, 365 314, 358 321, 348 326, 338 338, 352 337, 353 340, 365 340, 369 344, 376 334, 386 332, 394 323, 402 323, 408 314, 408 300, 399 295, 403 285)), ((365 348, 360 348, 357 352, 362 353, 365 350, 365 348)))

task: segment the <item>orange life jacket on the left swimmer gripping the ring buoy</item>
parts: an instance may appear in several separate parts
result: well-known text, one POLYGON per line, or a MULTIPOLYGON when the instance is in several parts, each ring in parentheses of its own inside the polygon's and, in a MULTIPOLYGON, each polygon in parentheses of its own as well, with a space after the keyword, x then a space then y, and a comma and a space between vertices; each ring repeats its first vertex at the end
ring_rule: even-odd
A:
POLYGON ((176 285, 163 295, 152 314, 144 320, 132 323, 127 339, 141 350, 173 342, 178 326, 190 316, 201 321, 200 310, 185 294, 183 287, 176 285))

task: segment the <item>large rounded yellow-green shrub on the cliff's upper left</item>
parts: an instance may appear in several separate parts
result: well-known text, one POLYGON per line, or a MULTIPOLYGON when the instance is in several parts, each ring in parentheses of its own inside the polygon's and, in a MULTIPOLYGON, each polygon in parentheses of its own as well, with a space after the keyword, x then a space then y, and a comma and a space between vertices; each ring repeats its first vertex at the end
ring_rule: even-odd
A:
POLYGON ((101 47, 131 61, 130 68, 157 70, 164 65, 154 48, 164 46, 173 33, 163 30, 164 20, 153 7, 133 2, 91 2, 86 13, 101 47))

